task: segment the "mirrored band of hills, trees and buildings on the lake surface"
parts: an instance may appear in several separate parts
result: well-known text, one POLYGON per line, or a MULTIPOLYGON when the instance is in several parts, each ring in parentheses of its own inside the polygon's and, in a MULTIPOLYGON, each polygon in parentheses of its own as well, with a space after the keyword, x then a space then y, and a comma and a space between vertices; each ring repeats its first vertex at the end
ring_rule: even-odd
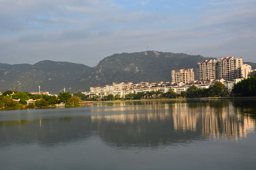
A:
POLYGON ((59 110, 43 110, 40 119, 30 115, 29 120, 9 121, 3 121, 7 114, 0 112, 0 148, 32 143, 52 147, 91 136, 100 136, 113 146, 132 147, 185 144, 206 138, 239 140, 255 131, 252 103, 255 101, 102 102, 93 108, 65 110, 65 116, 56 116, 61 115, 59 110))

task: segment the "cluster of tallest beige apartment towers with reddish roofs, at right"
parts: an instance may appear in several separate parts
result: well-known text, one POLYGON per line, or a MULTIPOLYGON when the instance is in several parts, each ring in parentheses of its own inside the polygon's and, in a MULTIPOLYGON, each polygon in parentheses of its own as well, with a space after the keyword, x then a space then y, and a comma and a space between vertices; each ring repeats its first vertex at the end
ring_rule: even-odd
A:
POLYGON ((251 66, 243 64, 243 58, 225 57, 198 62, 198 80, 220 79, 233 81, 247 78, 251 66))

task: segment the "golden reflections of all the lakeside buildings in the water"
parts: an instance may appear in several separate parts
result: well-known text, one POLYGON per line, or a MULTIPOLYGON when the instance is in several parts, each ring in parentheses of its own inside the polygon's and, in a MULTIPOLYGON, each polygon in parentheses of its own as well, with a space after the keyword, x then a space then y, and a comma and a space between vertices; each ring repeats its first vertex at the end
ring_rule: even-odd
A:
MULTIPOLYGON (((122 103, 124 104, 124 103, 122 103)), ((124 104, 125 105, 125 104, 124 104)), ((237 140, 246 137, 247 133, 256 127, 255 119, 243 110, 234 107, 229 101, 176 102, 175 104, 155 104, 145 107, 121 107, 111 110, 120 111, 121 114, 92 115, 92 122, 112 122, 121 124, 137 124, 141 120, 147 122, 173 121, 174 131, 201 131, 201 135, 213 138, 228 138, 237 140), (217 107, 216 107, 217 106, 217 107), (128 110, 144 110, 143 113, 122 113, 128 110)))

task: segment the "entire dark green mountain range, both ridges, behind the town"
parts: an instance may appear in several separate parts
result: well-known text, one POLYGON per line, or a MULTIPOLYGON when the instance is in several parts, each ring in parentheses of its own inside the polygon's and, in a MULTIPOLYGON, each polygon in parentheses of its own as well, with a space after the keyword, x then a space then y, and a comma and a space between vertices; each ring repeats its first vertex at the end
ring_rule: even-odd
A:
MULTIPOLYGON (((0 92, 40 90, 57 94, 66 88, 71 93, 89 91, 90 86, 104 86, 113 82, 171 81, 173 69, 193 68, 197 79, 197 62, 206 58, 183 53, 143 51, 113 54, 93 68, 83 64, 40 61, 30 64, 0 63, 0 92)), ((256 63, 247 62, 256 69, 256 63)))

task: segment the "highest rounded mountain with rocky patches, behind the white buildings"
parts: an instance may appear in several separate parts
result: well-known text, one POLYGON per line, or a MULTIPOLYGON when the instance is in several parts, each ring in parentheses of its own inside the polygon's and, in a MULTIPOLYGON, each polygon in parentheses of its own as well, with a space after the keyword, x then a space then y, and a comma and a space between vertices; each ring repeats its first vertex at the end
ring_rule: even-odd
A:
POLYGON ((102 59, 90 73, 84 74, 83 80, 90 82, 91 86, 112 82, 171 81, 172 70, 182 68, 193 68, 197 77, 197 62, 205 59, 213 58, 158 51, 114 54, 102 59))

